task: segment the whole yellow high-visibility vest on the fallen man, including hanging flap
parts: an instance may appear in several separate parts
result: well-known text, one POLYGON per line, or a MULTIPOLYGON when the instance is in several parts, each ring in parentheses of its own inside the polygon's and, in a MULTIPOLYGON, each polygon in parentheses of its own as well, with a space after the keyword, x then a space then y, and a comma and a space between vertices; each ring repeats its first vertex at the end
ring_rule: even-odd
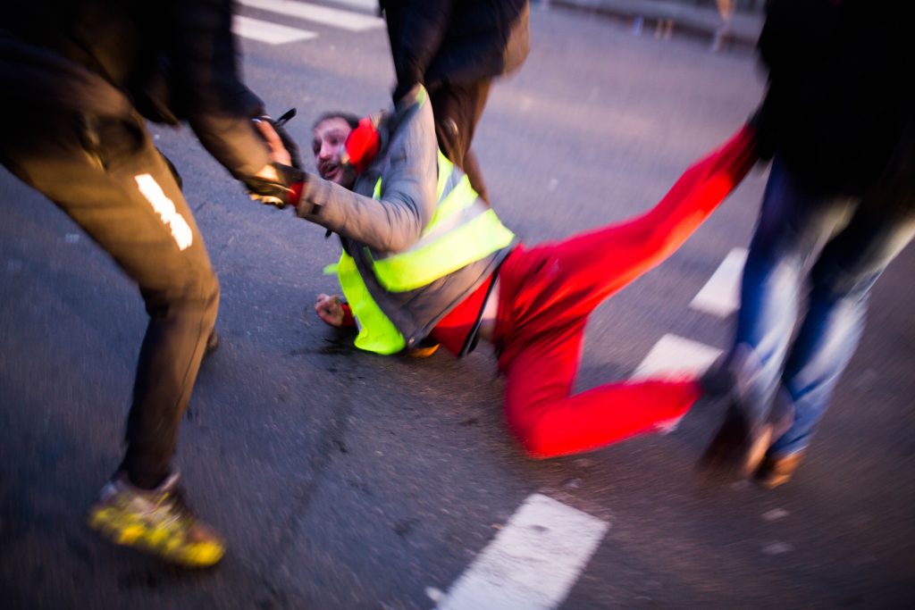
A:
MULTIPOLYGON (((381 198, 382 179, 375 183, 373 198, 381 198)), ((472 262, 505 248, 514 240, 496 213, 480 200, 470 180, 454 173, 454 166, 438 152, 436 212, 419 240, 404 251, 379 255, 365 247, 378 283, 392 293, 403 293, 454 273, 472 262), (454 178, 454 179, 453 179, 454 178)), ((384 315, 362 280, 356 262, 343 252, 337 264, 343 294, 359 325, 356 347, 377 354, 393 354, 404 348, 404 336, 384 315)))

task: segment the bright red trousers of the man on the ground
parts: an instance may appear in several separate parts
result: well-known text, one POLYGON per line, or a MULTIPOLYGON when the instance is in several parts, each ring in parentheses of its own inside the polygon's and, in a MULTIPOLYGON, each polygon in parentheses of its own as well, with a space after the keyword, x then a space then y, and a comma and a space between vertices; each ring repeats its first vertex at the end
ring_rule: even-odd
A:
POLYGON ((495 342, 509 426, 533 457, 574 454, 683 417, 695 380, 608 383, 572 395, 587 318, 597 305, 674 251, 755 163, 745 127, 686 170, 642 216, 530 250, 499 273, 495 342))

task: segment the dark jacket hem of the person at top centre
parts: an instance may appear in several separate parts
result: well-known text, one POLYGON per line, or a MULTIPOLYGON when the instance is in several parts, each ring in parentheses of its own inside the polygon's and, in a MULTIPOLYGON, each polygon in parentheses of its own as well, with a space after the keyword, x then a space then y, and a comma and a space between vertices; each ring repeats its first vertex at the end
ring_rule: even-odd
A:
POLYGON ((381 0, 397 74, 394 100, 417 83, 467 84, 518 69, 531 48, 528 0, 381 0))

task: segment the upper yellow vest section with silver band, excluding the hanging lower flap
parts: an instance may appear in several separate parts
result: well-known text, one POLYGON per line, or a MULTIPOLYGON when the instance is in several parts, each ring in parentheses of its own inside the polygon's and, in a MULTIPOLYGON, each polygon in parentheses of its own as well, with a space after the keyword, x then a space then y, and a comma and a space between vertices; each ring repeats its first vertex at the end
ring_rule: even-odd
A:
MULTIPOLYGON (((371 256, 372 271, 386 290, 403 293, 432 284, 514 239, 514 233, 470 187, 470 179, 459 173, 458 180, 453 177, 454 166, 439 151, 438 205, 419 240, 404 251, 371 256)), ((375 190, 380 195, 380 181, 375 190)))

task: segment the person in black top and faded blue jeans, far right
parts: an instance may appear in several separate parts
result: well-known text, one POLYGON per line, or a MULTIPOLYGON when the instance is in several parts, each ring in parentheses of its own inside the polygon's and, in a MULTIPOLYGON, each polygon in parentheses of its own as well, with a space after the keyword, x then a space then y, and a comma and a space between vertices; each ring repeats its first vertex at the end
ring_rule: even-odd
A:
POLYGON ((910 3, 854 0, 767 7, 756 124, 771 173, 734 347, 709 373, 732 400, 705 454, 765 487, 802 461, 870 289, 915 234, 912 14, 910 3))

